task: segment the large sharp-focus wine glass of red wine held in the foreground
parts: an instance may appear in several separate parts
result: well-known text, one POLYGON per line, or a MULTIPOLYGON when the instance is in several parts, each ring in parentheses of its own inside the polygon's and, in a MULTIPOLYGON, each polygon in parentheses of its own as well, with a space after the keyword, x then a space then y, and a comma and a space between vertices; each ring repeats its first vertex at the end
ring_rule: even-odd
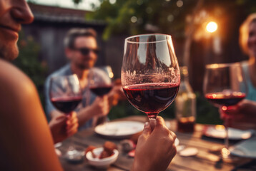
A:
POLYGON ((121 79, 129 102, 148 115, 154 129, 157 114, 172 103, 179 90, 172 37, 145 34, 126 38, 121 79))

